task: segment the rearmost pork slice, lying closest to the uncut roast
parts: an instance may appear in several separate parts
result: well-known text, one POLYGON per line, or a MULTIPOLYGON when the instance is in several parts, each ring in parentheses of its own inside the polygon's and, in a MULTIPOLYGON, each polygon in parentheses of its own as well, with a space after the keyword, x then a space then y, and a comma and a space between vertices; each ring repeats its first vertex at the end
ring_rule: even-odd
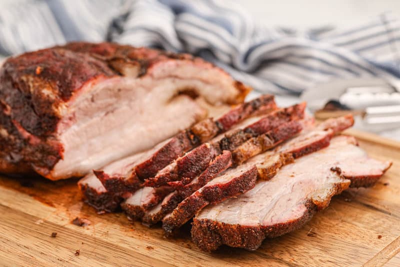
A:
MULTIPOLYGON (((190 154, 191 157, 182 157, 176 161, 176 163, 173 163, 170 166, 168 165, 168 163, 181 156, 185 151, 196 147, 200 142, 207 141, 217 134, 223 136, 222 133, 231 128, 233 125, 237 124, 237 126, 235 126, 235 128, 237 128, 245 123, 258 120, 257 117, 255 117, 249 118, 245 120, 245 122, 240 123, 240 121, 243 119, 257 114, 267 113, 273 109, 275 109, 273 97, 270 95, 261 96, 237 106, 216 120, 208 118, 198 122, 194 126, 179 132, 175 137, 172 137, 168 141, 158 144, 154 149, 150 150, 152 152, 146 153, 146 156, 142 157, 140 162, 136 162, 136 164, 132 167, 132 171, 125 176, 112 176, 108 173, 100 172, 95 172, 95 174, 100 181, 106 181, 107 184, 112 185, 107 187, 107 184, 104 183, 107 191, 112 191, 119 194, 123 194, 124 192, 132 192, 128 184, 131 184, 132 182, 136 183, 137 185, 139 183, 141 184, 139 180, 148 178, 149 175, 154 175, 157 173, 157 171, 159 171, 161 174, 166 173, 173 175, 173 170, 175 170, 176 166, 185 165, 186 162, 196 160, 198 158, 203 158, 203 162, 208 163, 209 160, 207 161, 204 158, 207 156, 212 158, 212 153, 215 154, 219 152, 215 151, 215 149, 208 144, 204 144, 195 150, 192 150, 194 153, 190 154)), ((186 177, 186 173, 184 172, 176 174, 186 177)), ((148 186, 148 184, 144 185, 148 186)))

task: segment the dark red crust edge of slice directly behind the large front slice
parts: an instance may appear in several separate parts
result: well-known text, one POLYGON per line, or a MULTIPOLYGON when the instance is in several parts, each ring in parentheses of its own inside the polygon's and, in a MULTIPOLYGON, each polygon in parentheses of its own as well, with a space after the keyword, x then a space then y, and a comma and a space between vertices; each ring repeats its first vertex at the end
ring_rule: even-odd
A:
POLYGON ((253 188, 256 180, 257 168, 250 166, 248 170, 232 177, 227 182, 205 185, 180 202, 172 213, 163 219, 162 228, 166 233, 171 233, 192 218, 204 206, 242 194, 253 188))

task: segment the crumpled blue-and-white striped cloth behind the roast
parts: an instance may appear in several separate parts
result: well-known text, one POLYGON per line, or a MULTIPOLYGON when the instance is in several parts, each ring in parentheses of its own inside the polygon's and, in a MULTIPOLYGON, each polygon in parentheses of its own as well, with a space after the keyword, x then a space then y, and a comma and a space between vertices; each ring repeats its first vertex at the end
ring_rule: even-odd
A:
POLYGON ((299 94, 331 78, 400 77, 400 23, 390 14, 346 30, 293 32, 221 0, 2 0, 0 8, 3 57, 114 41, 195 54, 274 94, 299 94))

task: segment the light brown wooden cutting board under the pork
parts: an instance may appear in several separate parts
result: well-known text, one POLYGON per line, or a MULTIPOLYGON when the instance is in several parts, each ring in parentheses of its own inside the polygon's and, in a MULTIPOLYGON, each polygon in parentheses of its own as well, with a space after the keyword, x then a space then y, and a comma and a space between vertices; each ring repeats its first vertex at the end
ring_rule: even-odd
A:
POLYGON ((95 214, 81 202, 76 180, 0 177, 0 265, 400 266, 400 143, 347 133, 393 166, 373 187, 335 196, 302 229, 265 240, 255 251, 204 253, 191 243, 189 225, 168 239, 159 225, 149 229, 123 213, 95 214), (74 225, 75 217, 91 224, 74 225))

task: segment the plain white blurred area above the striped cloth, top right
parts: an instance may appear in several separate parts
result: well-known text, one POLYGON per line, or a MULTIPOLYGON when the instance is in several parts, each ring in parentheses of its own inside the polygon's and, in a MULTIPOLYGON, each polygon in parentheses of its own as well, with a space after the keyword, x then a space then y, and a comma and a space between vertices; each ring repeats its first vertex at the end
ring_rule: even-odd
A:
POLYGON ((238 0, 238 3, 266 25, 298 30, 320 25, 355 26, 385 12, 400 15, 400 1, 397 0, 238 0))

